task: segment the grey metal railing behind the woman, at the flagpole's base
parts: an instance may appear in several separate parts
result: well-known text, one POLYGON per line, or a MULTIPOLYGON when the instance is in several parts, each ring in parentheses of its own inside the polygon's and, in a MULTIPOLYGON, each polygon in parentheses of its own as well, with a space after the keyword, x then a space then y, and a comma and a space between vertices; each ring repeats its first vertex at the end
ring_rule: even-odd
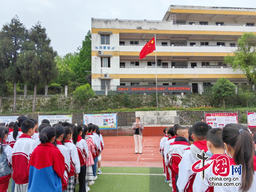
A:
POLYGON ((140 121, 144 125, 190 125, 190 121, 180 116, 143 116, 140 121))

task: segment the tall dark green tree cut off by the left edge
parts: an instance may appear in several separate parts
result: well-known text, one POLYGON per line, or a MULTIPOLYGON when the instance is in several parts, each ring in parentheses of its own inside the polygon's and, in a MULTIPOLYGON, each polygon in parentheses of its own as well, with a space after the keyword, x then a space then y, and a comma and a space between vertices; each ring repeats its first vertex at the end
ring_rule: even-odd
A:
POLYGON ((13 113, 17 112, 17 83, 23 82, 17 59, 26 41, 26 31, 18 16, 12 18, 10 23, 5 23, 0 31, 0 68, 3 70, 5 80, 14 86, 13 113))

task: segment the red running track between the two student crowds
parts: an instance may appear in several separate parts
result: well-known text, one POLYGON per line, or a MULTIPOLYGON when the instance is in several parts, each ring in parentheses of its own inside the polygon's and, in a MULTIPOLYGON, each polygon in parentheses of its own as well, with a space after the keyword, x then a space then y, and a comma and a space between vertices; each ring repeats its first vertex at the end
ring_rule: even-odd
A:
POLYGON ((135 154, 133 136, 103 137, 105 148, 101 166, 163 167, 163 158, 159 153, 161 138, 142 137, 142 154, 135 154))

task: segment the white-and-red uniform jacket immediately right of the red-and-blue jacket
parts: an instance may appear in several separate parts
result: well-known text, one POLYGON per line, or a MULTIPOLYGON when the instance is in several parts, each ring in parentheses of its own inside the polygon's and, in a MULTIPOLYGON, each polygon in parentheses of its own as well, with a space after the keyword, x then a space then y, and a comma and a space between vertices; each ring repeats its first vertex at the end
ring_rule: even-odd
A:
POLYGON ((68 174, 70 171, 70 155, 68 148, 62 145, 60 141, 57 141, 56 147, 58 147, 61 154, 64 156, 65 160, 64 180, 62 180, 62 191, 64 191, 68 186, 68 174))

